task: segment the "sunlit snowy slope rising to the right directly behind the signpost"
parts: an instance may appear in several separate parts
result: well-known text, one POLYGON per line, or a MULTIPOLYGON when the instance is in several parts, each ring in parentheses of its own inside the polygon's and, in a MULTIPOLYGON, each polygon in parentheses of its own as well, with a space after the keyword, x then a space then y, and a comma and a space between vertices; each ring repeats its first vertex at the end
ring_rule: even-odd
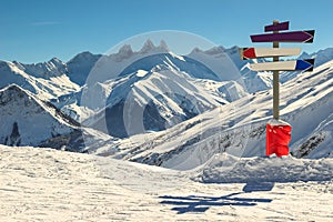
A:
MULTIPOLYGON (((291 151, 296 157, 322 158, 333 153, 332 74, 333 61, 281 85, 281 119, 293 127, 291 151)), ((262 157, 270 118, 271 90, 248 95, 167 131, 122 140, 115 157, 173 169, 195 168, 224 151, 262 157)))

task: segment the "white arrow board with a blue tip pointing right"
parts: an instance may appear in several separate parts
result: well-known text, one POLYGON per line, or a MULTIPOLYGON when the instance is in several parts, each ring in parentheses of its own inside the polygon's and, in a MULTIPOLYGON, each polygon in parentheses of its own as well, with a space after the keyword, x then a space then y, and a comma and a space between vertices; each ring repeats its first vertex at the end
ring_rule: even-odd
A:
POLYGON ((314 64, 314 59, 307 59, 307 60, 252 63, 250 64, 250 69, 252 71, 294 71, 294 70, 313 71, 313 64, 314 64))

